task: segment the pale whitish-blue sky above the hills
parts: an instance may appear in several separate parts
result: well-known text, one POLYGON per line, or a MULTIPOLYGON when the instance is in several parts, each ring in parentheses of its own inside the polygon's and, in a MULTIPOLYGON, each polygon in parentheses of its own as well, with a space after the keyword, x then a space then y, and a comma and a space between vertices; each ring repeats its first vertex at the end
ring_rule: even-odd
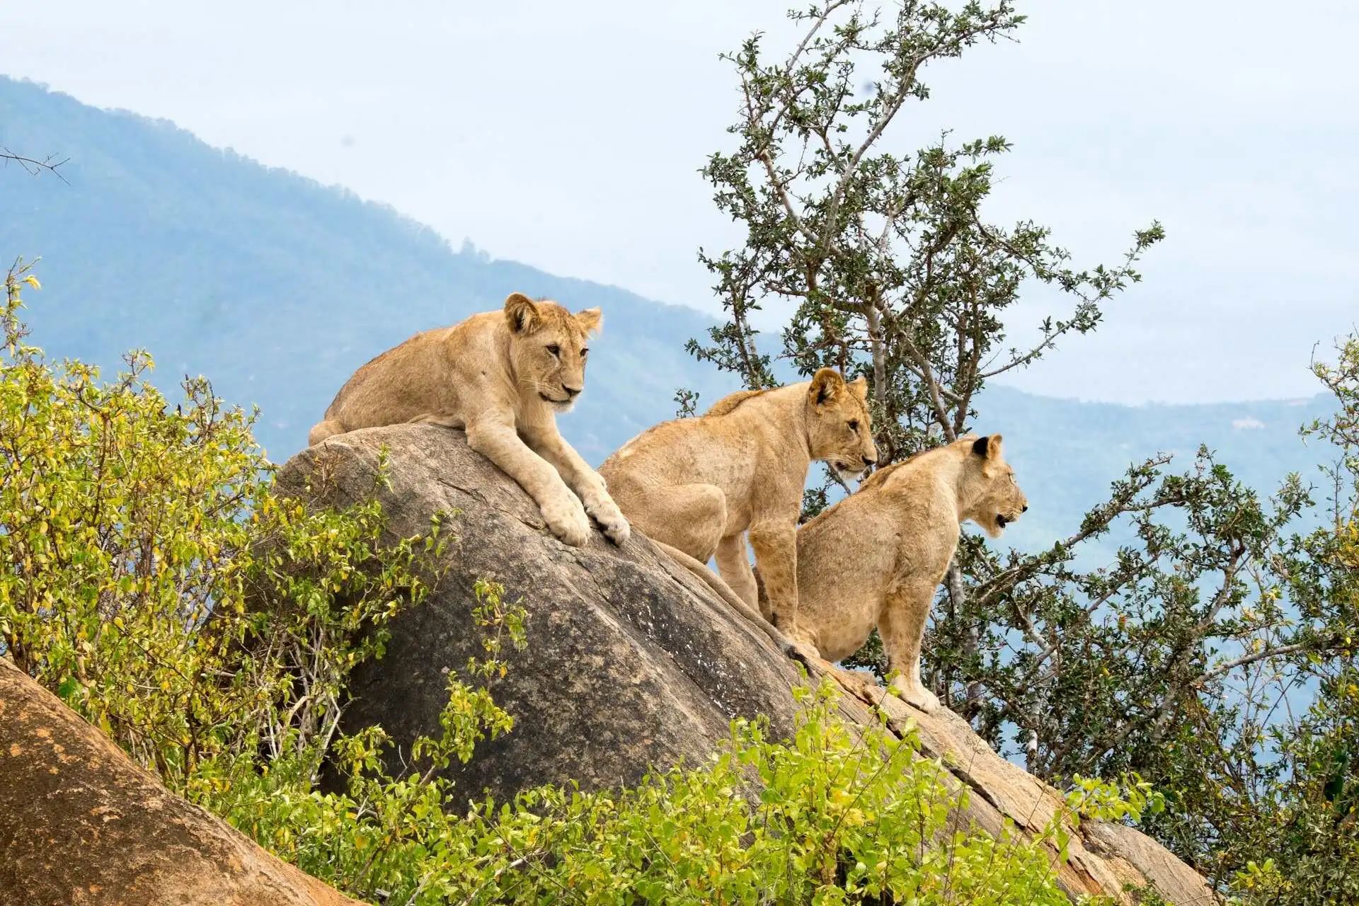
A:
MULTIPOLYGON (((742 236, 699 168, 727 148, 718 58, 791 0, 0 3, 0 72, 173 120, 352 189, 457 247, 715 312, 700 246, 742 236)), ((1078 265, 1167 239, 1101 329, 1007 383, 1110 402, 1310 395, 1359 323, 1359 4, 1018 0, 1017 42, 925 72, 889 149, 950 128, 1014 151, 984 213, 1078 265), (1345 113, 1349 110, 1351 113, 1345 113)), ((1057 300, 1015 311, 1023 337, 1057 300)))

